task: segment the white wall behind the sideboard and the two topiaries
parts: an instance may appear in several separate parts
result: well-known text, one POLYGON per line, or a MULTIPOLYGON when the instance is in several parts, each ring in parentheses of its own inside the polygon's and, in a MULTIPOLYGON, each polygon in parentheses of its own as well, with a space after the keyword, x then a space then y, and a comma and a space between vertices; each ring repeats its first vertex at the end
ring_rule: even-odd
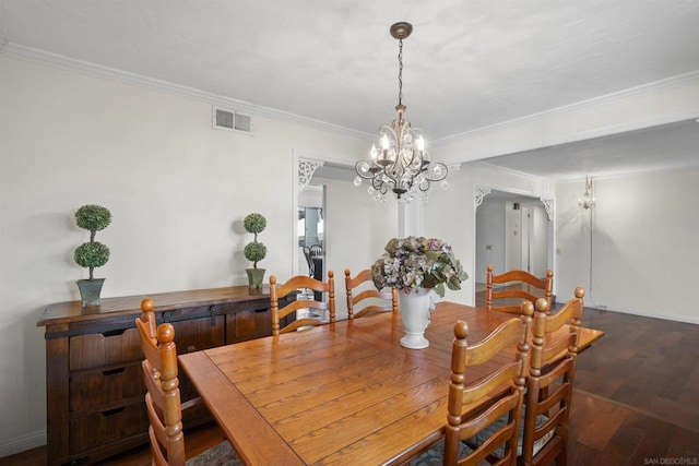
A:
MULTIPOLYGON (((246 283, 241 220, 268 218, 260 265, 288 276, 296 150, 352 164, 366 142, 254 117, 254 135, 211 128, 211 106, 0 58, 0 456, 46 443, 44 308, 79 299, 72 260, 86 203, 111 259, 103 296, 246 283)), ((356 224, 355 224, 356 225, 356 224)), ((357 235, 366 227, 357 228, 357 235)))

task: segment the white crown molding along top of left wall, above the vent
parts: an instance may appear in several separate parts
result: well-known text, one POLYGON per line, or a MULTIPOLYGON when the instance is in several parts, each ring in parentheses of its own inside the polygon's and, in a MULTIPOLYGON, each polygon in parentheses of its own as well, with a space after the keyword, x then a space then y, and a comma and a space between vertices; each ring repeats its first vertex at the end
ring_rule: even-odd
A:
POLYGON ((140 74, 130 73, 128 71, 118 70, 115 68, 103 67, 100 64, 92 63, 88 61, 72 59, 62 55, 51 53, 45 50, 25 47, 19 44, 0 44, 0 57, 13 58, 16 60, 27 61, 34 64, 52 68, 55 70, 69 71, 92 77, 111 80, 139 87, 155 89, 173 94, 178 97, 202 101, 205 104, 211 104, 224 108, 233 108, 237 111, 248 113, 250 116, 266 117, 274 120, 296 123, 344 136, 362 140, 370 140, 372 138, 371 134, 352 130, 350 128, 341 127, 337 124, 328 123, 312 118, 301 117, 299 115, 291 113, 283 110, 276 110, 270 107, 254 105, 245 100, 238 100, 230 97, 211 94, 204 91, 181 86, 167 81, 142 76, 140 74))

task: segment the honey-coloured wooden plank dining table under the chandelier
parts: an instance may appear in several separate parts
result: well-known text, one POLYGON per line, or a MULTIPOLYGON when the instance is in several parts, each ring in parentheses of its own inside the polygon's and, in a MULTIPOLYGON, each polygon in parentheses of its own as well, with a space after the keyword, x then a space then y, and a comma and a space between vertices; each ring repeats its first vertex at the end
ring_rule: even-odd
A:
MULTIPOLYGON (((442 301, 425 349, 400 345, 400 313, 389 312, 190 353, 179 362, 248 465, 400 464, 443 435, 454 323, 466 321, 475 343, 512 318, 442 301)), ((581 328, 581 349, 603 335, 581 328)), ((466 382, 507 358, 469 368, 466 382)))

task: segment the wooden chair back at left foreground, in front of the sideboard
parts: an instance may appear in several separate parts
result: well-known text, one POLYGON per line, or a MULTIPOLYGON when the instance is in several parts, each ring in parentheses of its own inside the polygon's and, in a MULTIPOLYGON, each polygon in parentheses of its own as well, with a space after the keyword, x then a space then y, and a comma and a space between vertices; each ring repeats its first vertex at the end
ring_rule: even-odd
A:
POLYGON ((145 356, 142 369, 147 390, 145 406, 151 422, 151 452, 155 465, 180 466, 185 465, 186 455, 175 328, 169 323, 156 328, 153 308, 153 300, 144 299, 141 302, 142 315, 135 320, 145 356))

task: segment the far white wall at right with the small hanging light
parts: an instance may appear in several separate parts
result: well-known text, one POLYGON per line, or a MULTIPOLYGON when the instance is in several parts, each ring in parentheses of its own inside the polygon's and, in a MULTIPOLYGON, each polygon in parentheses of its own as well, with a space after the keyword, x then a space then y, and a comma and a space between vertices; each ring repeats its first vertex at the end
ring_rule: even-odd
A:
POLYGON ((583 191, 556 187, 559 300, 583 286, 585 306, 699 323, 699 168, 595 179, 592 212, 578 207, 583 191))

